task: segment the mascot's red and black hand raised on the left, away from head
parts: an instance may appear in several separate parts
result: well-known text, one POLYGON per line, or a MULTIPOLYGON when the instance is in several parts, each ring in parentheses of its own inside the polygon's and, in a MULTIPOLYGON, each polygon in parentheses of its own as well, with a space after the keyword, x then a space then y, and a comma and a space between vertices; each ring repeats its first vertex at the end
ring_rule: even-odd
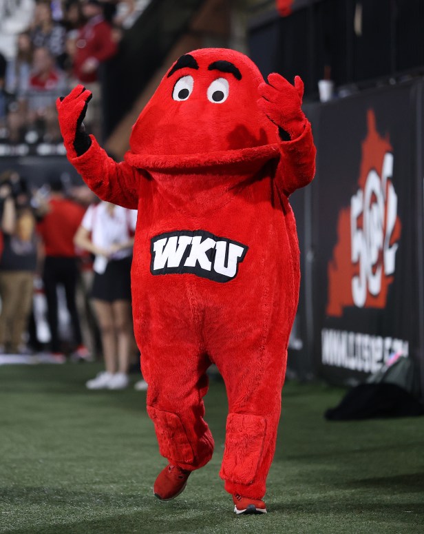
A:
POLYGON ((77 85, 70 94, 56 100, 63 144, 71 157, 81 156, 92 144, 83 125, 85 112, 91 99, 92 93, 83 85, 77 85))

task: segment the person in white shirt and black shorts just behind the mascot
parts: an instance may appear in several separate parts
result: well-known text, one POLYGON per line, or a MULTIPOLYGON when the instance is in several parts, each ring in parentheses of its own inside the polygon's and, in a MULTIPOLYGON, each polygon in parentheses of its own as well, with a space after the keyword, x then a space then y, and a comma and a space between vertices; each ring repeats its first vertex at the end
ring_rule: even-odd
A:
POLYGON ((105 371, 88 389, 124 389, 131 349, 130 269, 137 212, 107 202, 90 205, 74 243, 94 254, 91 297, 98 319, 105 371))

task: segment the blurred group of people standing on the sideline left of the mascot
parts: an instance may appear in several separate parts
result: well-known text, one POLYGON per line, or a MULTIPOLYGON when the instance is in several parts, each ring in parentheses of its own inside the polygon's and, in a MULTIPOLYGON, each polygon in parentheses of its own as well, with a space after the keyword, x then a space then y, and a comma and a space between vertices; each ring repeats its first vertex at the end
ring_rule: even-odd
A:
MULTIPOLYGON (((32 189, 0 174, 0 358, 91 361, 89 389, 123 389, 138 349, 130 269, 136 211, 100 202, 85 185, 47 177, 32 189)), ((145 389, 138 382, 138 389, 145 389)))

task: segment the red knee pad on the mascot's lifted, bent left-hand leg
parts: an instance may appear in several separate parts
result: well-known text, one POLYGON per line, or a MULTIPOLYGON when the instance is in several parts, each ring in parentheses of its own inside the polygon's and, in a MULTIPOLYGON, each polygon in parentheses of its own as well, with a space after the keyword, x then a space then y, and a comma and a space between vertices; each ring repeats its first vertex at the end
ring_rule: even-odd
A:
POLYGON ((175 462, 186 464, 193 462, 193 449, 180 416, 152 406, 147 407, 147 413, 155 425, 160 454, 175 462))

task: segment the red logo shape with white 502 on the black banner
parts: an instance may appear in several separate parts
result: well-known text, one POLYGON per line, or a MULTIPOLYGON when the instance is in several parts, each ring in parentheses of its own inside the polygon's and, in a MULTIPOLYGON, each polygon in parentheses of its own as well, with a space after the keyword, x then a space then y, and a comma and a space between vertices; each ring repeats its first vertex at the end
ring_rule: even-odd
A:
POLYGON ((359 187, 339 213, 339 241, 328 264, 329 316, 341 317, 348 306, 385 307, 401 237, 393 163, 392 146, 377 132, 370 110, 359 187))

